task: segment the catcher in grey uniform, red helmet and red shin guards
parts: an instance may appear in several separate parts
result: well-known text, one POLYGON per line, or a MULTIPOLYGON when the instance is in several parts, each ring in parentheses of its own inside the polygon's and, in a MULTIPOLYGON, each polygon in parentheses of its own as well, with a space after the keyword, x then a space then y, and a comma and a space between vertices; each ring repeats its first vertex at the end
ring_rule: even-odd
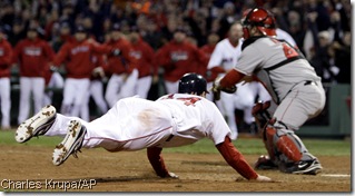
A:
MULTIPOLYGON (((264 127, 264 144, 268 156, 262 156, 256 168, 278 168, 284 173, 321 171, 313 156, 295 131, 324 108, 325 92, 321 78, 304 56, 288 42, 277 40, 273 14, 254 8, 243 18, 245 41, 238 63, 225 77, 214 82, 213 91, 234 91, 245 76, 256 76, 266 86, 277 107, 264 127)), ((218 96, 217 96, 218 97, 218 96)), ((268 106, 257 106, 265 111, 268 106)), ((264 114, 265 116, 265 114, 264 114)), ((268 118, 266 116, 266 118, 268 118)))

